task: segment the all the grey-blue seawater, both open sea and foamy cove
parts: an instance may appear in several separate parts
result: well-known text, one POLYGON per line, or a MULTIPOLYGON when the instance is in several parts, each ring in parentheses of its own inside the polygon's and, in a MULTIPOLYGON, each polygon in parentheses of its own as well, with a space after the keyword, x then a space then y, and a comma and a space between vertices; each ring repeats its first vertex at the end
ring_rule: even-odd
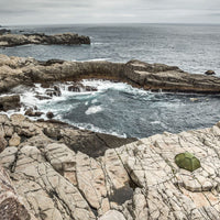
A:
MULTIPOLYGON (((204 74, 212 69, 220 76, 220 25, 201 24, 80 24, 10 26, 14 33, 64 33, 88 35, 91 45, 23 45, 0 48, 9 56, 31 56, 40 61, 129 62, 175 65, 185 72, 204 74)), ((156 133, 207 128, 220 120, 219 96, 151 92, 127 84, 84 80, 98 91, 69 92, 36 100, 40 85, 22 91, 26 106, 53 111, 55 118, 81 129, 120 136, 145 138, 156 133)))

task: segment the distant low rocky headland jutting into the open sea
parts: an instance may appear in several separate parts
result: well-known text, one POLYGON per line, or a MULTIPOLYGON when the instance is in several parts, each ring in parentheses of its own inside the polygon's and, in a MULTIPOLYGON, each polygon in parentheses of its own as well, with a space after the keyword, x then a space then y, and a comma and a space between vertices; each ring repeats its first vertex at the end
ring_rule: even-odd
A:
POLYGON ((55 35, 45 34, 4 34, 0 35, 0 46, 19 46, 24 44, 90 44, 88 36, 74 33, 55 35))

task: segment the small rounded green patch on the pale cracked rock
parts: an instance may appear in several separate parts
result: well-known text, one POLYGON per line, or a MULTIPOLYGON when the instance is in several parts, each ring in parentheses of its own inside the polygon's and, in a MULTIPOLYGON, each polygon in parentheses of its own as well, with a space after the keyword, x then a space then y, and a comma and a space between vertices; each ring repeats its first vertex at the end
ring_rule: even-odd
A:
POLYGON ((179 168, 194 172, 201 167, 200 161, 191 153, 185 152, 175 156, 175 163, 179 168))

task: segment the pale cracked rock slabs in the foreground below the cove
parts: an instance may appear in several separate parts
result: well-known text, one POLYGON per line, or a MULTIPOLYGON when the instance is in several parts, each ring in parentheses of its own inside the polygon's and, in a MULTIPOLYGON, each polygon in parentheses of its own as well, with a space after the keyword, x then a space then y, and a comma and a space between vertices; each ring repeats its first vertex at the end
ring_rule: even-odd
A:
POLYGON ((13 114, 1 116, 0 125, 7 142, 0 165, 23 200, 26 219, 219 219, 219 123, 122 146, 116 140, 105 152, 103 136, 85 141, 82 131, 64 124, 13 114), (97 141, 102 152, 92 154, 86 143, 97 152, 97 141), (200 160, 199 169, 176 166, 175 155, 185 151, 200 160))

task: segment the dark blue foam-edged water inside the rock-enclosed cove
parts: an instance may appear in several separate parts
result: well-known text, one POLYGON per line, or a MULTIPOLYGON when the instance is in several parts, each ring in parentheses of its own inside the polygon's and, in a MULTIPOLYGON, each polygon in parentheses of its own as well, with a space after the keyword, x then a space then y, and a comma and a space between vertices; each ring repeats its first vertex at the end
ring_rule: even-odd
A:
POLYGON ((37 106, 44 113, 53 111, 56 119, 76 127, 120 136, 177 133, 210 127, 220 119, 219 96, 157 94, 102 80, 82 80, 82 84, 98 91, 73 92, 67 85, 59 85, 61 97, 38 100, 36 92, 45 95, 45 89, 36 85, 22 95, 22 102, 37 106))

